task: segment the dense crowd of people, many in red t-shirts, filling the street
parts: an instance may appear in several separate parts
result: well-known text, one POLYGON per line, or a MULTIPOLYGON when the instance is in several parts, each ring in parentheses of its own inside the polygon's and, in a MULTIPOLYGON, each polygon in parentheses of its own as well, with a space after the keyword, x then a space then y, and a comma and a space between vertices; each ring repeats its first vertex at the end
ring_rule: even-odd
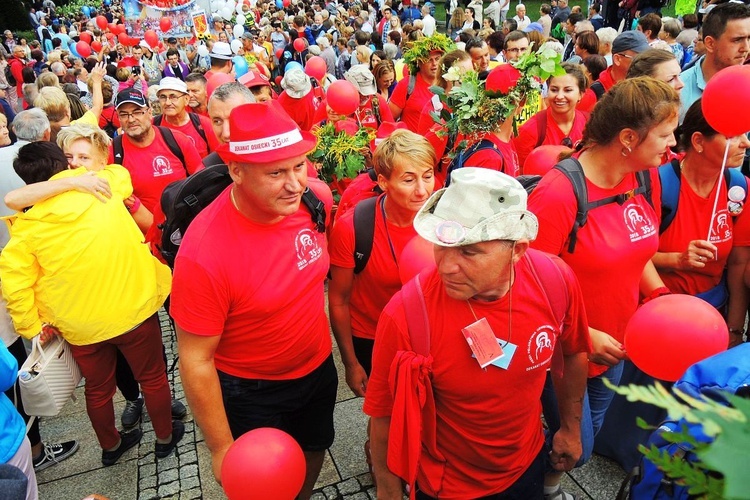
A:
MULTIPOLYGON (((43 441, 24 413, 13 374, 37 335, 70 344, 104 466, 141 441, 144 405, 156 457, 175 450, 188 409, 163 306, 217 481, 237 438, 277 427, 304 451, 300 498, 335 437, 331 332, 365 398, 378 498, 422 500, 574 499, 561 475, 593 453, 644 302, 700 297, 728 348, 745 340, 747 179, 720 173, 750 140, 712 128, 701 96, 750 62, 746 4, 678 19, 649 0, 454 0, 444 35, 430 2, 259 0, 240 4, 239 30, 215 12, 208 35, 149 43, 118 37, 106 3, 65 18, 39 2, 36 39, 0 44, 0 464, 26 478, 21 498, 79 447, 43 441), (559 71, 456 133, 467 110, 446 95, 492 86, 507 104, 514 65, 550 50, 559 71), (327 95, 337 80, 359 96, 348 115, 327 95), (372 138, 335 197, 308 159, 330 123, 372 138), (527 194, 516 178, 549 147, 527 194), (197 176, 226 189, 166 235, 168 258, 163 195, 197 176), (435 265, 406 280, 416 241, 435 265)), ((635 450, 635 432, 617 439, 635 450)))

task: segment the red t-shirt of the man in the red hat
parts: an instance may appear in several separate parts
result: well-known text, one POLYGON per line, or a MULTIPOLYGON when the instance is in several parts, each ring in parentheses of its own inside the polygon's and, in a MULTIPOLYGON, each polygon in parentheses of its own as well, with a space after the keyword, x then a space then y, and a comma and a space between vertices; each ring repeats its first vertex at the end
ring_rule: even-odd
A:
MULTIPOLYGON (((330 215, 331 191, 314 179, 309 186, 330 215)), ((221 336, 214 359, 222 372, 247 379, 303 377, 331 354, 323 292, 326 235, 315 230, 304 204, 276 224, 255 223, 234 208, 230 189, 185 233, 170 312, 187 332, 221 336)))

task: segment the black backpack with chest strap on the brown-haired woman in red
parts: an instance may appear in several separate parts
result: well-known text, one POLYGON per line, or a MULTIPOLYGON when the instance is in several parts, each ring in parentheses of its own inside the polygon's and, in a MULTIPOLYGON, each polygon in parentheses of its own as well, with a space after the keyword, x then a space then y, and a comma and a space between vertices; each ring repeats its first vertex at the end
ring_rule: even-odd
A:
MULTIPOLYGON (((570 230, 568 236, 568 253, 573 253, 576 248, 576 242, 578 237, 578 230, 586 225, 588 220, 588 214, 595 208, 609 205, 610 203, 619 203, 622 205, 630 198, 634 198, 639 194, 642 194, 649 205, 653 206, 651 200, 651 176, 648 170, 641 170, 636 172, 635 177, 638 181, 638 187, 627 193, 618 194, 616 196, 608 196, 601 200, 589 201, 588 189, 586 187, 586 177, 583 175, 583 167, 575 158, 566 158, 557 165, 555 169, 559 170, 565 177, 570 181, 573 186, 573 193, 576 195, 576 219, 573 223, 573 228, 570 230)), ((521 175, 516 178, 518 182, 526 189, 526 192, 531 193, 534 188, 539 184, 541 175, 521 175)))

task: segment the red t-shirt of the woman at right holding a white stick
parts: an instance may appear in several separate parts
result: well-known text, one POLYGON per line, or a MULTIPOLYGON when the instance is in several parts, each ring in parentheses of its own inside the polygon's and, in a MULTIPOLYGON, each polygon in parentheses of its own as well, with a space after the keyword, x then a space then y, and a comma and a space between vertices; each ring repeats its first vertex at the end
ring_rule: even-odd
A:
MULTIPOLYGON (((749 181, 750 182, 750 181, 749 181)), ((696 271, 673 270, 661 273, 664 284, 674 293, 696 295, 710 290, 721 281, 732 247, 750 246, 750 215, 747 210, 733 220, 727 210, 727 184, 722 177, 717 183, 719 204, 711 230, 711 243, 718 249, 718 260, 706 262, 706 267, 696 271)), ((654 185, 655 200, 661 199, 661 185, 654 185)), ((716 187, 707 198, 699 196, 682 178, 677 213, 666 231, 659 237, 660 252, 684 252, 691 241, 705 240, 711 224, 716 187)))

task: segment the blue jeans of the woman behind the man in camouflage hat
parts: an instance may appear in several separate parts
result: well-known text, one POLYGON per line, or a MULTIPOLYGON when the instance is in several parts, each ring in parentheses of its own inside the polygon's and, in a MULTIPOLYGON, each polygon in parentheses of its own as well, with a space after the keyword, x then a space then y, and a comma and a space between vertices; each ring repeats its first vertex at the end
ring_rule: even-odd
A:
MULTIPOLYGON (((581 414, 581 446, 583 453, 576 467, 580 467, 591 458, 591 453, 594 449, 594 438, 599 433, 599 429, 602 428, 604 415, 607 413, 607 408, 609 408, 609 404, 615 395, 613 391, 607 389, 603 379, 607 378, 613 384, 619 384, 620 377, 622 377, 623 365, 623 363, 617 363, 601 375, 590 378, 586 384, 586 393, 583 396, 583 412, 581 414)), ((555 388, 552 385, 552 376, 549 372, 547 372, 547 380, 544 383, 544 391, 542 392, 542 412, 549 428, 547 442, 551 449, 552 437, 560 429, 560 413, 558 411, 555 388)), ((547 462, 548 471, 552 471, 552 465, 549 461, 547 462)))

